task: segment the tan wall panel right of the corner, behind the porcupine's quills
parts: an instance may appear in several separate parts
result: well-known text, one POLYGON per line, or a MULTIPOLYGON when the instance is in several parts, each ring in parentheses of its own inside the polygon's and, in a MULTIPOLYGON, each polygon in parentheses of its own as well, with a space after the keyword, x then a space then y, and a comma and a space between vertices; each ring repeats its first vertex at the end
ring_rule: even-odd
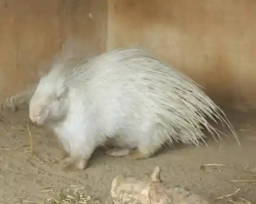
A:
POLYGON ((256 108, 256 1, 109 0, 108 49, 140 46, 218 103, 256 108))

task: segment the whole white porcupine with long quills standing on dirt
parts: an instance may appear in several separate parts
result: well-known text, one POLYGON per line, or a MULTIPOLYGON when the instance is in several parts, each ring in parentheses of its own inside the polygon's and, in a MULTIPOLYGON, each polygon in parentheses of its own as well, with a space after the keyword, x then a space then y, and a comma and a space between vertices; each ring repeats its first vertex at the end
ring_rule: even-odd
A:
POLYGON ((66 169, 86 168, 109 138, 123 147, 109 155, 135 159, 152 156, 164 143, 198 146, 203 127, 219 135, 206 117, 226 123, 236 137, 222 110, 193 80, 135 48, 78 65, 54 64, 30 100, 29 117, 58 135, 70 156, 66 169))

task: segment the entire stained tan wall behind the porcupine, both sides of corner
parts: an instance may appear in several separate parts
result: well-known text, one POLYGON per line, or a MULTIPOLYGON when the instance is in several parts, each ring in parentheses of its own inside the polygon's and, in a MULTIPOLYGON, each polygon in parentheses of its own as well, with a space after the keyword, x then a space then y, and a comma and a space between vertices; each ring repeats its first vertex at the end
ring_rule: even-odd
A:
POLYGON ((78 38, 86 56, 147 48, 217 103, 256 108, 255 11, 254 0, 0 0, 0 103, 78 38))

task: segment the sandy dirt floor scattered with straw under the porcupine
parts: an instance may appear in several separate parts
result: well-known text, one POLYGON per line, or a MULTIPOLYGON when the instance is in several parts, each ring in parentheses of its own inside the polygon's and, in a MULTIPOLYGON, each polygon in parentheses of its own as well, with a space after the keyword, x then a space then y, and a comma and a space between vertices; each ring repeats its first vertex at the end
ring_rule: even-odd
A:
POLYGON ((239 200, 242 198, 256 203, 256 178, 253 175, 256 174, 255 113, 228 115, 239 135, 242 147, 238 146, 232 136, 223 137, 223 141, 219 142, 209 138, 209 148, 205 145, 177 145, 175 149, 166 148, 154 158, 140 161, 112 158, 105 155, 102 150, 97 150, 89 168, 71 173, 62 171, 58 160, 63 153, 58 148, 54 135, 33 126, 28 120, 27 110, 16 113, 5 111, 2 114, 0 203, 44 203, 45 199, 53 197, 53 189, 66 188, 84 188, 81 192, 92 198, 89 203, 111 203, 110 185, 116 175, 147 177, 156 165, 162 167, 164 181, 173 185, 184 185, 212 201, 240 189, 233 197, 234 201, 236 199, 237 203, 246 203, 239 200), (33 137, 33 156, 30 156, 26 123, 29 124, 33 137), (235 169, 202 169, 201 166, 204 164, 233 165, 235 169))

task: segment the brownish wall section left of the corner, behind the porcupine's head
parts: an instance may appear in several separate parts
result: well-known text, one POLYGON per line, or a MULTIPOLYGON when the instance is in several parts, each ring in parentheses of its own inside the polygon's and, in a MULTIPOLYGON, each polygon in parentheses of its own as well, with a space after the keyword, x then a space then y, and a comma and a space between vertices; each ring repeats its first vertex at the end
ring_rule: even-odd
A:
POLYGON ((0 102, 36 82, 66 39, 89 57, 105 51, 106 37, 105 0, 0 0, 0 102))

